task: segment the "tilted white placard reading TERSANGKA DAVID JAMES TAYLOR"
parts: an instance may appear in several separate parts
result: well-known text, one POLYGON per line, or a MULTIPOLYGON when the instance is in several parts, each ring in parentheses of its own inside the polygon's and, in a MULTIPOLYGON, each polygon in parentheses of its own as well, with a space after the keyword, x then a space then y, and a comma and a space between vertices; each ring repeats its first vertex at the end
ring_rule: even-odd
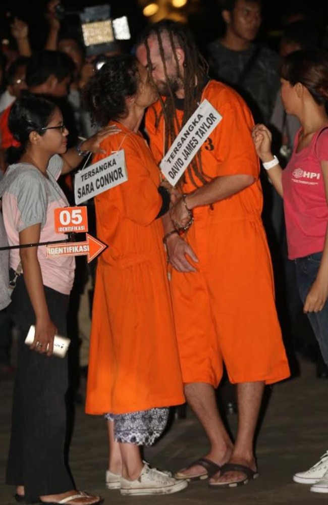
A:
POLYGON ((159 164, 162 173, 173 186, 221 120, 221 114, 208 100, 203 100, 159 164))

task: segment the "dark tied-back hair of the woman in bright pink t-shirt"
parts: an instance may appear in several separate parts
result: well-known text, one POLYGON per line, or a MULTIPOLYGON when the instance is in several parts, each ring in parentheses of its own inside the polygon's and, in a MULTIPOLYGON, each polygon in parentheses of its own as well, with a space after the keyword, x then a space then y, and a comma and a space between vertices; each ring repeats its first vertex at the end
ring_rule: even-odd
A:
POLYGON ((318 105, 328 102, 327 49, 300 49, 284 58, 280 75, 292 86, 303 84, 318 105))

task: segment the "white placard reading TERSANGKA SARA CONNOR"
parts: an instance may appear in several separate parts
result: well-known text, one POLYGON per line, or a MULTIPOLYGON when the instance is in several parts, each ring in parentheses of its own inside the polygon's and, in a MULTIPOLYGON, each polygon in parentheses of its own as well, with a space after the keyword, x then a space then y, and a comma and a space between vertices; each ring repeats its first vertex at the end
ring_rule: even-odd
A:
POLYGON ((77 172, 74 181, 75 203, 93 198, 128 180, 124 149, 77 172))

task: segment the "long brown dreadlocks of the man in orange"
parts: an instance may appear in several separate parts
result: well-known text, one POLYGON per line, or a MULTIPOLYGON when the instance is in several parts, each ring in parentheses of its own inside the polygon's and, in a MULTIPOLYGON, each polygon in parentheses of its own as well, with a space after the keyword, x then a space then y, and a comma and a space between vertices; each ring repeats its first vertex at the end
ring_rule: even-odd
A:
MULTIPOLYGON (((162 97, 160 97, 162 111, 160 115, 156 117, 155 124, 157 128, 161 115, 163 115, 165 118, 165 152, 167 152, 175 140, 177 133, 181 130, 181 127, 187 123, 188 119, 195 112, 199 105, 204 82, 207 78, 208 64, 199 53, 191 33, 181 23, 165 19, 146 28, 137 42, 137 46, 144 44, 146 47, 149 69, 151 69, 150 51, 148 44, 149 37, 157 38, 159 53, 163 62, 167 84, 170 89, 170 95, 166 98, 166 100, 163 100, 162 97), (163 45, 164 38, 166 40, 169 40, 171 44, 172 54, 177 65, 177 70, 179 70, 179 62, 176 54, 176 48, 181 47, 185 54, 185 60, 183 64, 183 87, 185 97, 182 124, 179 123, 177 117, 174 92, 169 84, 165 59, 165 48, 163 45)), ((182 76, 180 75, 180 77, 182 76)), ((196 182, 195 178, 197 178, 201 184, 206 184, 210 181, 210 177, 206 176, 202 169, 200 150, 188 166, 187 170, 190 181, 195 187, 199 187, 200 185, 196 182)))

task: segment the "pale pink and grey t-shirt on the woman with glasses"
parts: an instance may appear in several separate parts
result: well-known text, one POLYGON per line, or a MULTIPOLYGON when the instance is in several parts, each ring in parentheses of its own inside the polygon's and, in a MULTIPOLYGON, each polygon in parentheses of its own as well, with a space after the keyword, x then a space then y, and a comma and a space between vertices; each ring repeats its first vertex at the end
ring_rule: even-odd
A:
MULTIPOLYGON (((17 173, 3 194, 3 215, 9 245, 19 244, 19 232, 38 223, 41 224, 40 242, 67 239, 64 233, 57 234, 54 231, 54 209, 69 205, 57 183, 62 166, 62 158, 54 155, 50 158, 46 177, 27 163, 8 167, 4 181, 6 177, 17 173)), ((60 293, 70 294, 74 281, 74 258, 47 258, 45 245, 38 247, 37 257, 43 284, 60 293)), ((19 249, 11 249, 10 267, 16 270, 19 263, 19 249)))

